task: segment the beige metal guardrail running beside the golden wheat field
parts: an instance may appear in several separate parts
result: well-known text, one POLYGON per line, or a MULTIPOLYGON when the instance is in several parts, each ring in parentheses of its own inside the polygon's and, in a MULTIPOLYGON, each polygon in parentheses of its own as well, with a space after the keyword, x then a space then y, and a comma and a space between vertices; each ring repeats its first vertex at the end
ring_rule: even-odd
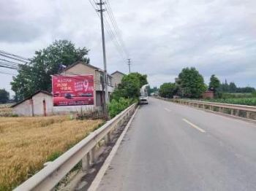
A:
POLYGON ((80 141, 56 160, 49 163, 45 168, 42 168, 37 174, 31 176, 26 182, 23 182, 23 184, 16 187, 15 191, 51 190, 80 161, 82 161, 82 170, 86 171, 89 168, 90 163, 95 162, 95 152, 99 141, 102 139, 110 141, 113 130, 121 127, 124 120, 127 120, 129 116, 135 112, 135 107, 136 104, 132 104, 132 106, 129 106, 112 120, 106 122, 105 125, 102 125, 101 128, 90 133, 85 139, 80 141))

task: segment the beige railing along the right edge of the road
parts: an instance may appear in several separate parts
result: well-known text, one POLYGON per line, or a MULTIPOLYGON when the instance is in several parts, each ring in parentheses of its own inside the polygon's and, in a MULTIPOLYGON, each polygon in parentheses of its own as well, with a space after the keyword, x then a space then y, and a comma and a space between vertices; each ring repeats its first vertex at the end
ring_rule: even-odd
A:
POLYGON ((187 106, 193 106, 201 109, 208 109, 213 112, 221 112, 236 117, 244 117, 249 120, 256 120, 256 106, 245 106, 236 104, 222 104, 209 101, 195 101, 187 99, 172 99, 171 101, 187 106))

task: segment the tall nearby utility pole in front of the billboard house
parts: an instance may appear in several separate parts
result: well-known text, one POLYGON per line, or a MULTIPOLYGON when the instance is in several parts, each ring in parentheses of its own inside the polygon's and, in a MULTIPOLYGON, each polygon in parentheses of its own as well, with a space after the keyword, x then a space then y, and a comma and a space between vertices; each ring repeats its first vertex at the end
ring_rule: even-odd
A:
MULTIPOLYGON (((99 0, 99 10, 100 12, 100 21, 102 27, 102 50, 103 50, 103 63, 104 63, 104 87, 105 87, 105 114, 107 114, 107 103, 108 103, 108 73, 107 73, 107 59, 106 59, 106 50, 105 50, 105 34, 104 34, 104 22, 103 22, 103 12, 105 9, 102 9, 102 5, 105 4, 102 0, 99 0)), ((103 90, 102 90, 103 91, 103 90)))

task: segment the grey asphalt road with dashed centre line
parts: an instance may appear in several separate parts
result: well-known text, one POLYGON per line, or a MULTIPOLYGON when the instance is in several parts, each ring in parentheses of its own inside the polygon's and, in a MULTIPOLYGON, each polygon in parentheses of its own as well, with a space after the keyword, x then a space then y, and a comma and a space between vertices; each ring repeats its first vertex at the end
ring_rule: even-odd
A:
POLYGON ((256 125, 150 98, 98 190, 256 190, 256 125))

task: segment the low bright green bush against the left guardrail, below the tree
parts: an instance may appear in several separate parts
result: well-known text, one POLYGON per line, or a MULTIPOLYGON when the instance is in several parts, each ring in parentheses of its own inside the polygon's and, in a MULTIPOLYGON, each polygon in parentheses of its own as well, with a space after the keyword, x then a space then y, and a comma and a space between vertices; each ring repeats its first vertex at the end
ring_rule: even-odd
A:
POLYGON ((135 100, 131 98, 112 99, 108 104, 108 113, 113 118, 133 103, 135 103, 135 100))

